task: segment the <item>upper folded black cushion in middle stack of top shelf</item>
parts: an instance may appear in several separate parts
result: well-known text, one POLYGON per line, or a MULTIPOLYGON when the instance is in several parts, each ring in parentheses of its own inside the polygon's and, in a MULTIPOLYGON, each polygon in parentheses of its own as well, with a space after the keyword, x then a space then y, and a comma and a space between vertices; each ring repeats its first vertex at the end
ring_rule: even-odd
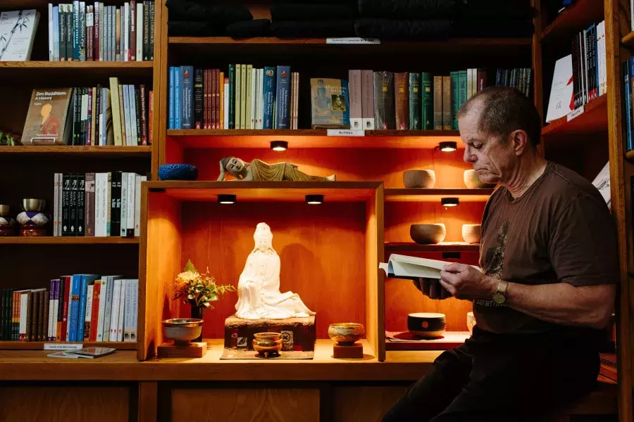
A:
POLYGON ((354 4, 273 4, 271 20, 344 20, 359 15, 354 4))

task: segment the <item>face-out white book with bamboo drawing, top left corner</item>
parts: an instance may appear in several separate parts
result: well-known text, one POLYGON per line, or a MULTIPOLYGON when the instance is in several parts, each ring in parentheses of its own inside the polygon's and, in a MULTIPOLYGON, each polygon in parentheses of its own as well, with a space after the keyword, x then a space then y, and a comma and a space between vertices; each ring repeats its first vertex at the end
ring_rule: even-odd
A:
MULTIPOLYGON (((39 12, 35 9, 0 13, 0 61, 26 61, 31 59, 38 22, 39 12)), ((52 31, 51 21, 51 29, 49 31, 51 36, 52 31)), ((50 50, 52 50, 51 43, 52 39, 49 43, 50 50)))

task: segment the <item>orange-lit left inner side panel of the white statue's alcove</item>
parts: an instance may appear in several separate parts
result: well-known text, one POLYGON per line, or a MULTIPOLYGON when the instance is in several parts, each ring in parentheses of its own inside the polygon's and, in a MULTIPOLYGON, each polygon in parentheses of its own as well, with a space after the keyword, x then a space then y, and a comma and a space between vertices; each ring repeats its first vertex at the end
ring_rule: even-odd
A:
POLYGON ((165 193, 142 193, 141 252, 139 253, 139 359, 156 354, 163 343, 161 321, 178 313, 172 300, 175 276, 182 269, 180 203, 165 193))

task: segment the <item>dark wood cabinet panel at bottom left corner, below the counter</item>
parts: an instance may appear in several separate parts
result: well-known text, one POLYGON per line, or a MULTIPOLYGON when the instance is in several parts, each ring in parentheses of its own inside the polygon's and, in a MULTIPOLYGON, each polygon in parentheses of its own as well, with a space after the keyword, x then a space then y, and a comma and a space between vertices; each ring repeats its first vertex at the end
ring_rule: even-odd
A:
POLYGON ((128 422, 126 387, 0 387, 0 421, 128 422))

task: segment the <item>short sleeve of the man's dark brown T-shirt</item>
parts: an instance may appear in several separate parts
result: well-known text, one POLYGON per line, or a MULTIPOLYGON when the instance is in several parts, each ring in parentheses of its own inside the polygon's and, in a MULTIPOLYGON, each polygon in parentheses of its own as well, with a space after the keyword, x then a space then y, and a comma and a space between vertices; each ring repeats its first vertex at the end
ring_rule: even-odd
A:
POLYGON ((549 257, 560 282, 619 283, 616 229, 605 203, 588 194, 574 199, 550 236, 549 257))

